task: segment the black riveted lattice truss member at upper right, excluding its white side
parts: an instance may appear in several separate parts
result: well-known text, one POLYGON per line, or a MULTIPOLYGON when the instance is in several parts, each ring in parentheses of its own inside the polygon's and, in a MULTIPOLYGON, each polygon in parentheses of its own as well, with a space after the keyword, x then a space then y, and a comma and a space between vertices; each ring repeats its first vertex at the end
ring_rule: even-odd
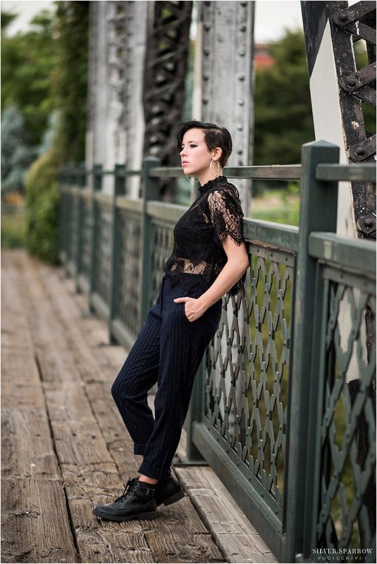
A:
MULTIPOLYGON (((365 128, 363 103, 376 107, 376 2, 327 2, 347 156, 352 163, 375 161, 376 134, 365 128), (352 41, 350 41, 352 37, 352 41), (353 44, 364 39, 368 65, 357 69, 353 44), (357 123, 357 127, 355 127, 357 123)), ((376 238, 376 201, 370 183, 352 183, 359 237, 376 238)))

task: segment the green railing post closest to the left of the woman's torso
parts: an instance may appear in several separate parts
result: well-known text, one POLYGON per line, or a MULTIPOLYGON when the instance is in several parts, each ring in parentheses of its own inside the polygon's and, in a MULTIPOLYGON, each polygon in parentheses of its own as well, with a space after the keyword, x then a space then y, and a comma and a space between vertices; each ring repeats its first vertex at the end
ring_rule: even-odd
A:
POLYGON ((149 309, 149 288, 151 281, 151 258, 152 258, 152 223, 147 214, 149 200, 159 200, 159 180, 151 178, 151 168, 160 166, 160 160, 156 157, 147 157, 143 163, 143 204, 142 204, 142 268, 140 283, 140 326, 144 323, 149 309))

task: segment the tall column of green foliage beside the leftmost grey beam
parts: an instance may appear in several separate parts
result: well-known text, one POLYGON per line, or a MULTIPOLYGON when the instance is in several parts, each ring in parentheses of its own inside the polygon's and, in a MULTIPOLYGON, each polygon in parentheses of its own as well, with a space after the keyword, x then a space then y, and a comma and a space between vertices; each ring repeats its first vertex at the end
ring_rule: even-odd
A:
POLYGON ((53 263, 58 260, 58 170, 85 159, 89 26, 89 2, 56 5, 56 67, 49 80, 52 107, 58 111, 51 114, 49 135, 42 140, 42 147, 51 148, 32 165, 26 183, 27 248, 53 263))

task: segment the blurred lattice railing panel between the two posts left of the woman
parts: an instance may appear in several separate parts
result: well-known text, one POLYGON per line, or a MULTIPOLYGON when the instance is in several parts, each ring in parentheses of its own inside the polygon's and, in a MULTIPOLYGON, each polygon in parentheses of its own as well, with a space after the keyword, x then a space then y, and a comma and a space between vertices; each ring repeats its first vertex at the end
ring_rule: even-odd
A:
POLYGON ((135 335, 140 331, 141 215, 116 209, 116 316, 135 335))

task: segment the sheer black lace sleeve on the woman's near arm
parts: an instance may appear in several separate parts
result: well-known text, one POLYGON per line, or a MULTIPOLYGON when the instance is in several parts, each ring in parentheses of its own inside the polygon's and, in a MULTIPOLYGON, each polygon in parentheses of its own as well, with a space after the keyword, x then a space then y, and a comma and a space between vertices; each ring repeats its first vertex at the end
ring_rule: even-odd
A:
POLYGON ((230 190, 215 190, 209 194, 207 201, 215 243, 223 245, 231 237, 237 245, 241 245, 243 213, 237 195, 230 190))

